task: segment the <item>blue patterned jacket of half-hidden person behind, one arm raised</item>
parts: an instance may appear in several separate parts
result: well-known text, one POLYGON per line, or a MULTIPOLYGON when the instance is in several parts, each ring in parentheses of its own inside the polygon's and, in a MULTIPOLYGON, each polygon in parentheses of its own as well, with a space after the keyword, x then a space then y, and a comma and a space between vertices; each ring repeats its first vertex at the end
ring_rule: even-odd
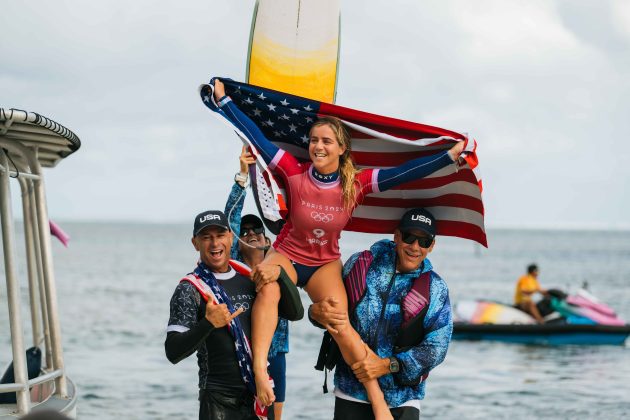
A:
MULTIPOLYGON (((243 212, 243 204, 245 203, 245 189, 238 183, 232 185, 232 191, 225 203, 225 215, 230 220, 230 228, 234 232, 234 242, 230 251, 230 257, 234 260, 244 262, 241 251, 238 249, 237 235, 241 231, 241 213, 243 212)), ((289 321, 284 318, 278 318, 278 326, 271 340, 269 348, 269 358, 271 359, 278 353, 289 352, 289 321)))

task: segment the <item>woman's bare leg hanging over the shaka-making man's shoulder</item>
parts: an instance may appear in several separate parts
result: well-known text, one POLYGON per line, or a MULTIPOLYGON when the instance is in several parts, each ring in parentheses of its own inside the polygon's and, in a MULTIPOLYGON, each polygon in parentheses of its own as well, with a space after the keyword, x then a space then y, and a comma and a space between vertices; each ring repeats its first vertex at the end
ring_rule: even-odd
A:
MULTIPOLYGON (((291 280, 297 282, 297 274, 291 261, 273 248, 261 264, 280 265, 291 280)), ((267 372, 267 355, 271 340, 278 324, 278 302, 280 301, 280 286, 277 282, 267 283, 258 291, 252 306, 252 358, 256 393, 262 404, 271 405, 276 396, 269 383, 267 372)))

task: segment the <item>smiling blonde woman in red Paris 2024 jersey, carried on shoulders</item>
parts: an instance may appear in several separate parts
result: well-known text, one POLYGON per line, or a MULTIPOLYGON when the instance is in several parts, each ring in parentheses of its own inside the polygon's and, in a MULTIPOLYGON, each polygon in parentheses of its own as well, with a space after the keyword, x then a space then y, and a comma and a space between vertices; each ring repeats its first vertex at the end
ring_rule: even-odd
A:
MULTIPOLYGON (((271 143, 262 131, 225 96, 225 87, 214 81, 214 98, 220 111, 241 129, 269 168, 282 177, 288 190, 289 215, 273 247, 252 276, 258 296, 252 312, 254 378, 259 399, 270 405, 273 388, 267 381, 267 353, 278 320, 279 286, 270 273, 287 272, 313 302, 336 301, 346 313, 347 297, 341 278, 339 237, 352 211, 366 195, 423 178, 459 158, 464 142, 435 156, 420 157, 390 169, 357 170, 350 157, 350 136, 337 118, 323 117, 310 130, 309 163, 300 163, 271 143), (270 267, 272 266, 272 267, 270 267), (263 287, 264 286, 264 287, 263 287)), ((367 356, 369 348, 348 322, 327 325, 344 360, 352 365, 367 356)), ((377 420, 391 419, 389 407, 376 379, 364 383, 377 420)))

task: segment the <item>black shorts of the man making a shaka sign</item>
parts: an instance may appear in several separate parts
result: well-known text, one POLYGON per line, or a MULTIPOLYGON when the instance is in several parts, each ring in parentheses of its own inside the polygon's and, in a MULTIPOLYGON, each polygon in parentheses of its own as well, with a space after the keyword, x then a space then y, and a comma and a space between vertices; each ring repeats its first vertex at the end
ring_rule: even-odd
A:
MULTIPOLYGON (((273 420, 273 407, 269 407, 273 420)), ((202 389, 199 391, 199 420, 258 420, 254 413, 254 396, 247 390, 202 389)))

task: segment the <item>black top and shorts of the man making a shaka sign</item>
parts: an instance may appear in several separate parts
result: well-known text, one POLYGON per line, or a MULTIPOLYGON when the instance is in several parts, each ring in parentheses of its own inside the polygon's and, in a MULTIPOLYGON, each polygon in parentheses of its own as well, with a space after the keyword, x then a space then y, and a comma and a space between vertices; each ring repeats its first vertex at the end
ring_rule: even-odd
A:
MULTIPOLYGON (((245 335, 251 337, 251 308, 256 296, 254 283, 231 268, 228 273, 214 275, 235 309, 245 308, 239 320, 245 335)), ((197 351, 200 420, 255 420, 253 395, 241 379, 234 339, 227 327, 215 328, 205 313, 206 302, 197 289, 189 282, 179 283, 171 298, 166 357, 172 363, 178 363, 197 351)))

